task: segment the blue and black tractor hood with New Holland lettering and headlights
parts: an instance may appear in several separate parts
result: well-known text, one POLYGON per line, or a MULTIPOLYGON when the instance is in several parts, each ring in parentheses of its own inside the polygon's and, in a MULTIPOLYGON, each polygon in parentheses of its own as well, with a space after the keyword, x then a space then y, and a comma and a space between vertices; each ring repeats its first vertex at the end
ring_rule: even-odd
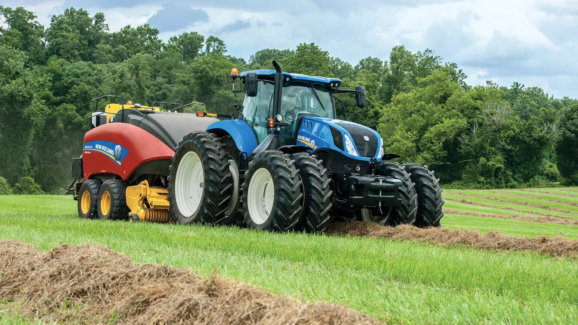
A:
POLYGON ((296 145, 309 146, 314 151, 332 149, 357 160, 377 158, 380 161, 383 156, 381 137, 371 128, 323 117, 303 116, 299 120, 296 145))

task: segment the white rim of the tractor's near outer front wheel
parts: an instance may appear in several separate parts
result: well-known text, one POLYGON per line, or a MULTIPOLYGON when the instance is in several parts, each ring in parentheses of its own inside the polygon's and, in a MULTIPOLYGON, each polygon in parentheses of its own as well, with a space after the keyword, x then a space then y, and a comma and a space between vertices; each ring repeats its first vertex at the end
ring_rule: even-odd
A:
POLYGON ((249 216, 255 224, 264 224, 275 200, 275 185, 271 173, 265 168, 259 168, 253 174, 247 191, 247 206, 249 216))

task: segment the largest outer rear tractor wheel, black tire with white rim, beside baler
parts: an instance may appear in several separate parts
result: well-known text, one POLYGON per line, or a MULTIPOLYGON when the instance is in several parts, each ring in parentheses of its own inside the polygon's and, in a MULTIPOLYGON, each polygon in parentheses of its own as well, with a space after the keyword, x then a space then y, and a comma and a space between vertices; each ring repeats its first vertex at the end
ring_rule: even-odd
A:
POLYGON ((176 223, 225 220, 233 181, 225 146, 204 131, 184 136, 169 168, 169 203, 176 223))

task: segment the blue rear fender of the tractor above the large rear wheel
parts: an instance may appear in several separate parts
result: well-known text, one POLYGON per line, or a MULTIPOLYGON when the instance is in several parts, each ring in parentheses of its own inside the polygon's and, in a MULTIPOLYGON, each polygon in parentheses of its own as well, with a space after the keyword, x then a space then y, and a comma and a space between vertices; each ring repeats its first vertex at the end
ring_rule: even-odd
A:
POLYGON ((247 156, 249 156, 258 145, 255 131, 253 131, 251 125, 244 120, 217 121, 207 127, 207 132, 221 137, 231 135, 237 149, 242 153, 247 153, 247 156))

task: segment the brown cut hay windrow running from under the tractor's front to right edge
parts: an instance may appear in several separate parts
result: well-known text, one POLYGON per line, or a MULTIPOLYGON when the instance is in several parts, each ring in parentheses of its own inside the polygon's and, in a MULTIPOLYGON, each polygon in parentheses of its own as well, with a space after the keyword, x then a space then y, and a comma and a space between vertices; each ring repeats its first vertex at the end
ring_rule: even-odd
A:
POLYGON ((450 228, 417 228, 402 224, 397 227, 381 226, 372 221, 352 221, 331 225, 331 233, 357 237, 385 238, 388 240, 425 241, 443 246, 465 245, 470 248, 495 250, 520 250, 539 252, 554 257, 575 259, 578 254, 578 239, 564 237, 517 237, 501 232, 485 234, 477 230, 450 228))

